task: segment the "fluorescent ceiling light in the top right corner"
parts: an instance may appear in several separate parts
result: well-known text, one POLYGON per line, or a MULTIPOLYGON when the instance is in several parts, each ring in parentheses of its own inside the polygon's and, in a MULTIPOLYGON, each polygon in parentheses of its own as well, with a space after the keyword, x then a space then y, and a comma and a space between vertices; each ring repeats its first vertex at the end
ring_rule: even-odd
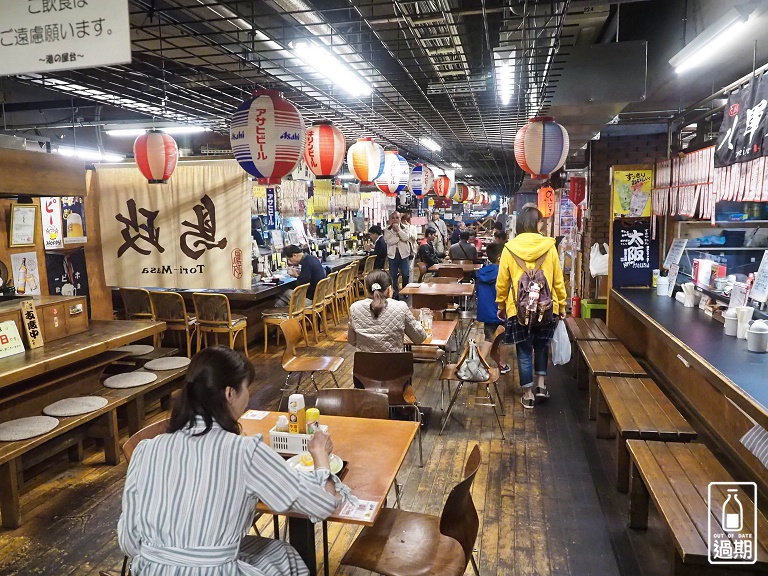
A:
POLYGON ((670 65, 675 68, 675 72, 678 74, 687 72, 722 53, 728 44, 742 34, 753 9, 751 3, 731 8, 705 28, 701 34, 669 60, 670 65))

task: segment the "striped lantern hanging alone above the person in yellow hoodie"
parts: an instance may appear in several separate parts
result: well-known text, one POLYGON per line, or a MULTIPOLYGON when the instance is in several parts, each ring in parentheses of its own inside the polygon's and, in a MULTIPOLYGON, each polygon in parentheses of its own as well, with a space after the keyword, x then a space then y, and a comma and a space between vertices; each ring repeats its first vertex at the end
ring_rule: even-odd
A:
POLYGON ((568 146, 568 132, 554 118, 531 118, 515 135, 515 160, 534 178, 547 178, 565 163, 568 146))

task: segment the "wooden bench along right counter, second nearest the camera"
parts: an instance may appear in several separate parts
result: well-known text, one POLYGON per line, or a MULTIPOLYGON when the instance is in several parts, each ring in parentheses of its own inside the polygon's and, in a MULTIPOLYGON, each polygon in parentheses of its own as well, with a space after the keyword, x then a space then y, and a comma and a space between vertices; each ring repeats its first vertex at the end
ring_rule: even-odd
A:
POLYGON ((650 378, 598 376, 597 437, 616 436, 616 489, 629 489, 627 440, 689 442, 696 432, 650 378))

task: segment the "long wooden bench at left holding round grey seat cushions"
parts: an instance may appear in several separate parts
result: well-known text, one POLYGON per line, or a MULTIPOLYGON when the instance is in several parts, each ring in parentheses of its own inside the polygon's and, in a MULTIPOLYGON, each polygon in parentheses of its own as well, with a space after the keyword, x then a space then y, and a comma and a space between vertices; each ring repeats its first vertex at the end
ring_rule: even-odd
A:
MULTIPOLYGON (((105 353, 94 360, 94 364, 83 370, 86 381, 91 381, 94 375, 100 376, 104 370, 104 363, 114 357, 120 358, 122 353, 105 353)), ((155 394, 168 397, 173 388, 180 383, 180 379, 186 374, 186 367, 176 370, 157 372, 157 380, 144 386, 134 388, 112 389, 98 384, 91 386, 89 390, 80 391, 82 394, 102 396, 107 399, 103 408, 88 414, 59 418, 59 425, 47 434, 36 436, 28 440, 15 442, 0 442, 0 513, 2 525, 5 528, 17 528, 21 524, 21 512, 19 506, 19 491, 23 486, 23 471, 34 464, 44 460, 51 454, 69 451, 71 461, 80 461, 83 457, 82 443, 86 438, 99 438, 104 443, 104 459, 107 464, 115 465, 120 462, 120 446, 117 410, 124 408, 127 415, 128 434, 134 434, 144 426, 144 400, 148 395, 155 394)), ((144 371, 140 369, 138 371, 144 371)), ((71 380, 72 373, 66 374, 66 379, 71 380)), ((40 394, 34 399, 25 401, 24 406, 31 407, 42 402, 47 403, 60 400, 66 395, 55 391, 55 380, 48 383, 48 393, 40 394), (58 396, 58 397, 57 397, 58 396), (55 398, 53 400, 52 398, 55 398)), ((37 410, 26 409, 17 414, 17 417, 40 415, 42 407, 37 410)))

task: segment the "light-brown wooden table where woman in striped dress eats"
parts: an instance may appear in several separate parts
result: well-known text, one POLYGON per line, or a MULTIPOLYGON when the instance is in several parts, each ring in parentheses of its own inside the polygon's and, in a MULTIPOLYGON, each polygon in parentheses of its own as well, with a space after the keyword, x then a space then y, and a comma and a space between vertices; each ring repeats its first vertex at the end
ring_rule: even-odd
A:
MULTIPOLYGON (((243 434, 262 434, 269 442, 269 430, 281 414, 284 413, 270 412, 262 420, 240 420, 243 434)), ((344 483, 361 500, 376 502, 376 509, 369 520, 345 518, 338 515, 338 510, 328 520, 372 526, 416 436, 418 424, 339 416, 323 416, 322 422, 328 426, 333 438, 334 453, 347 462, 347 470, 342 478, 344 483), (364 441, 361 442, 361 438, 364 441)), ((259 503, 258 510, 272 513, 263 503, 259 503)), ((314 576, 317 574, 314 525, 305 516, 288 514, 288 528, 291 545, 299 552, 309 573, 314 576)))

